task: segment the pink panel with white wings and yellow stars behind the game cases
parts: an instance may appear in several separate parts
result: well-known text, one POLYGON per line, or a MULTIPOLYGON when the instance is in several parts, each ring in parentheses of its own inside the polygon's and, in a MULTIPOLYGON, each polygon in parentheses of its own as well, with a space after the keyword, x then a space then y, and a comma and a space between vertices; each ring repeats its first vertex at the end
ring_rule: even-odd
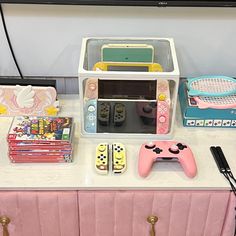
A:
POLYGON ((54 87, 0 86, 0 116, 55 116, 59 111, 54 87))

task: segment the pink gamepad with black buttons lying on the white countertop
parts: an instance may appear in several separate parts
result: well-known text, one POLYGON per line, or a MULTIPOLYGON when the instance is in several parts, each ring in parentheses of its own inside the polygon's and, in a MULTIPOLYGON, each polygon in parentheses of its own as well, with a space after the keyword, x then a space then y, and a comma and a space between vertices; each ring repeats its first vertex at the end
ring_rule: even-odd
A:
POLYGON ((184 143, 176 141, 153 141, 142 144, 139 151, 138 172, 141 177, 148 176, 152 164, 158 160, 177 160, 185 174, 193 178, 197 166, 191 149, 184 143))

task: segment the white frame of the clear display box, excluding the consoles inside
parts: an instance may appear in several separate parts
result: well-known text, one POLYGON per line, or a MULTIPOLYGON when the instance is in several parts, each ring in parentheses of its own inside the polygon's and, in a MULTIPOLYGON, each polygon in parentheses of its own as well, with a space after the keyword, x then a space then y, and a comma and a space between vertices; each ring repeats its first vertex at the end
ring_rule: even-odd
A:
MULTIPOLYGON (((113 38, 113 37, 90 37, 83 38, 79 62, 79 92, 81 106, 81 135, 94 138, 150 138, 150 139, 170 139, 173 135, 177 94, 179 86, 179 67, 176 57, 174 41, 171 38, 113 38), (146 44, 154 48, 153 62, 159 63, 162 72, 140 72, 140 71, 100 71, 94 70, 94 65, 102 60, 102 47, 107 44, 146 44), (167 133, 143 132, 135 130, 134 132, 122 130, 122 132, 110 131, 86 131, 87 105, 88 99, 85 99, 85 85, 88 79, 98 79, 100 82, 111 81, 157 81, 167 80, 170 87, 170 118, 169 130, 167 133)), ((115 82, 114 82, 115 83, 115 82)), ((135 87, 135 86, 134 86, 135 87)), ((102 99, 101 99, 102 100, 102 99)), ((121 99, 123 100, 123 99, 121 99)), ((126 99, 125 99, 126 100, 126 99)), ((128 99, 129 100, 129 99, 128 99)), ((132 99, 131 99, 132 100, 132 99)), ((133 101, 133 100, 132 100, 133 101)), ((138 101, 139 102, 139 101, 138 101)), ((97 109, 97 108, 96 108, 97 109)), ((97 110, 96 110, 97 113, 97 110)), ((97 116, 97 114, 96 114, 97 116)), ((130 120, 132 114, 129 115, 130 120)), ((128 117, 128 116, 127 116, 128 117)), ((132 121, 131 121, 132 122, 132 121)), ((132 122, 133 123, 133 122, 132 122)))

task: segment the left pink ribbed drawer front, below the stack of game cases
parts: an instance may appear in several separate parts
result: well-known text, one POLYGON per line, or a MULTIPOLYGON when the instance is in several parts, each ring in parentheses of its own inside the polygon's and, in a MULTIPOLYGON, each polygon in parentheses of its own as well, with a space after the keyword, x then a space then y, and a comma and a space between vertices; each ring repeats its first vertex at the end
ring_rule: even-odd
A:
POLYGON ((10 236, 79 236, 76 191, 1 191, 0 215, 10 236))

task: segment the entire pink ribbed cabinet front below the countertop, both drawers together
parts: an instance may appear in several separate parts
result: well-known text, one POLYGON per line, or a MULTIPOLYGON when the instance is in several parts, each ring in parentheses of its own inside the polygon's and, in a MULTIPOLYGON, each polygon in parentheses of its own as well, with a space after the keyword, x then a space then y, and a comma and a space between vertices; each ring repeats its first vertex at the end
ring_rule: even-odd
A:
MULTIPOLYGON (((8 236, 233 236, 229 191, 1 191, 8 236)), ((5 232, 3 232, 5 231, 5 232)))

